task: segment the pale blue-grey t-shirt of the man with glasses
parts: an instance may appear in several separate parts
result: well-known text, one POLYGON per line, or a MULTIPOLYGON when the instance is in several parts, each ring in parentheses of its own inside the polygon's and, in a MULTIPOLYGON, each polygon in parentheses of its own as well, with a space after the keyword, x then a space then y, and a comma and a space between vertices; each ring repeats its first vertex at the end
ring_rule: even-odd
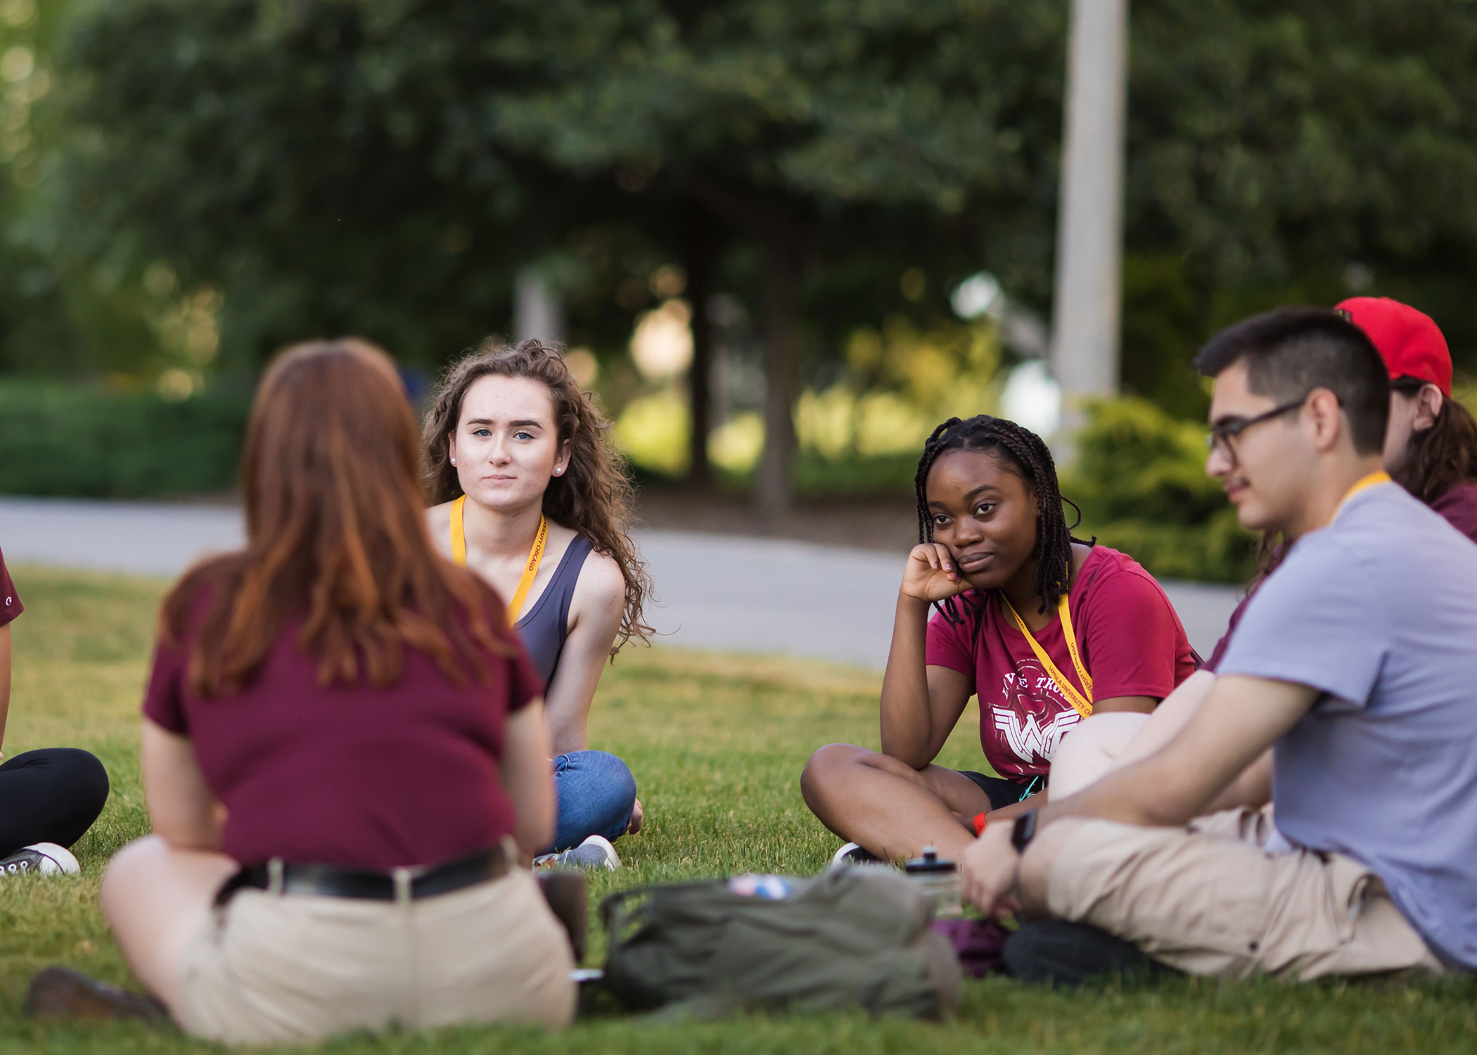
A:
POLYGON ((1276 824, 1378 875, 1477 969, 1477 545, 1394 483, 1298 539, 1220 675, 1325 693, 1273 748, 1276 824))

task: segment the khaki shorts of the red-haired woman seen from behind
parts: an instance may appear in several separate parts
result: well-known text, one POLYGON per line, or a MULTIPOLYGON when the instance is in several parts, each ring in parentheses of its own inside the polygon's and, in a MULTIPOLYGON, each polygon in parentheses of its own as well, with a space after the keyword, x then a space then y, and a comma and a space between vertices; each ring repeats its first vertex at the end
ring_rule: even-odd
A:
POLYGON ((239 891, 185 956, 174 1018, 227 1045, 575 1017, 563 926, 521 869, 419 901, 239 891))

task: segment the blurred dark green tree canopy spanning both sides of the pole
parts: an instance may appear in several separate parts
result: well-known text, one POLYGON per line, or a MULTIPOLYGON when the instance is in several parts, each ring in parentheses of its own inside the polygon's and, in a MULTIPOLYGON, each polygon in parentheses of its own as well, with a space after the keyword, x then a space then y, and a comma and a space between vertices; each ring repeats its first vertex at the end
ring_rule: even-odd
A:
MULTIPOLYGON (((46 4, 52 132, 0 211, 59 318, 114 304, 95 316, 162 341, 219 291, 227 363, 353 330, 431 365, 504 328, 538 262, 609 359, 676 262, 703 408, 705 291, 758 318, 778 507, 801 371, 860 324, 928 325, 979 267, 1049 306, 1060 0, 46 4)), ((1137 0, 1125 386, 1198 412, 1189 352, 1219 325, 1363 290, 1430 310, 1461 361, 1474 44, 1477 0, 1137 0)), ((0 325, 22 270, 0 260, 0 325)))

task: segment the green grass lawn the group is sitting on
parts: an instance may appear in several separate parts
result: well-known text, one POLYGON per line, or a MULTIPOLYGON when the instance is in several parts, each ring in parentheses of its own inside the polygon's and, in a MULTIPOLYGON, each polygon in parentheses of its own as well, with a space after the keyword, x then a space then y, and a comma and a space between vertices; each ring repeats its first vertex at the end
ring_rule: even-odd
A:
MULTIPOLYGON (((16 569, 27 613, 15 624, 15 694, 6 755, 72 745, 112 776, 97 824, 74 848, 80 876, 0 881, 0 1052, 174 1052, 208 1048, 120 1025, 37 1025, 21 1017, 27 980, 47 963, 134 984, 97 910, 108 856, 146 830, 137 706, 162 582, 16 569)), ((836 848, 805 810, 796 779, 830 740, 876 743, 870 674, 789 660, 634 649, 607 672, 591 742, 631 762, 647 827, 622 839, 626 867, 592 897, 628 885, 731 872, 814 873, 836 848)), ((945 764, 978 765, 970 708, 945 764)), ((597 940, 597 952, 601 943, 597 940)), ((706 1024, 597 1018, 566 1037, 450 1030, 350 1037, 332 1052, 1471 1052, 1468 981, 1219 984, 1176 980, 1053 993, 1007 980, 970 983, 945 1024, 755 1017, 706 1024)))

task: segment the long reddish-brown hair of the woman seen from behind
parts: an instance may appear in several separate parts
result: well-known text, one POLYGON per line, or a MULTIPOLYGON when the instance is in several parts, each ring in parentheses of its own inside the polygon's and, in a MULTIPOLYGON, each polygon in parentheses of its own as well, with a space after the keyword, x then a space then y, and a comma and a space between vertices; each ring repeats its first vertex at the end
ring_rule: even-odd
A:
POLYGON ((294 622, 321 687, 391 686, 406 649, 453 684, 486 683, 489 655, 514 655, 493 590, 431 544, 415 424, 394 365, 366 341, 273 361, 247 424, 247 545, 195 564, 161 612, 167 641, 193 638, 196 696, 248 687, 294 622))

